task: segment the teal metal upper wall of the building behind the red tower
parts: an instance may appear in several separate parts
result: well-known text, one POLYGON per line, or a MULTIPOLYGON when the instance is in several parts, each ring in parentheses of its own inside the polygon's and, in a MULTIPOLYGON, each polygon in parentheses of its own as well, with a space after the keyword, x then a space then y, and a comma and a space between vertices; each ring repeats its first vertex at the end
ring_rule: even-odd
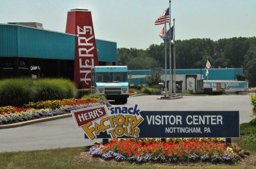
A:
MULTIPOLYGON (((99 61, 116 62, 117 65, 116 43, 96 39, 96 46, 99 61)), ((75 36, 19 25, 0 24, 0 57, 74 60, 75 36)))

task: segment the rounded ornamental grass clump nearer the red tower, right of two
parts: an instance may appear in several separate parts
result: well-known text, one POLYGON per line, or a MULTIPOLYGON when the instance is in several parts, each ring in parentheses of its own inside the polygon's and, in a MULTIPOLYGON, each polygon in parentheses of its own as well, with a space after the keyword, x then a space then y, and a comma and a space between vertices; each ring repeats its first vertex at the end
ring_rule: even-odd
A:
POLYGON ((73 98, 76 88, 73 82, 66 79, 40 79, 35 82, 35 102, 39 100, 54 100, 73 98))

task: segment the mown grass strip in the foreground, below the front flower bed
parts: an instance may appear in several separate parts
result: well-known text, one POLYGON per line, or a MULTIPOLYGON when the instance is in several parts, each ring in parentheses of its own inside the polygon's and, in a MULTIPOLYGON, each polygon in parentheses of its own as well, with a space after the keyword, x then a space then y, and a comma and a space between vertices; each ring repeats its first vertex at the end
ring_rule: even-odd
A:
POLYGON ((178 167, 178 166, 96 166, 88 163, 73 163, 75 156, 85 150, 85 147, 20 151, 14 153, 0 153, 0 168, 256 168, 252 166, 206 166, 206 167, 178 167))

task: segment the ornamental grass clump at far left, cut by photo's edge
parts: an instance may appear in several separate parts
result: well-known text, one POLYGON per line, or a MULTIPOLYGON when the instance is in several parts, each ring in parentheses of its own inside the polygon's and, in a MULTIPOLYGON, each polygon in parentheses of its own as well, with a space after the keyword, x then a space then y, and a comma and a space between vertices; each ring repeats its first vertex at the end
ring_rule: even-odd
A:
POLYGON ((0 81, 0 106, 22 106, 33 100, 34 87, 30 79, 0 81))

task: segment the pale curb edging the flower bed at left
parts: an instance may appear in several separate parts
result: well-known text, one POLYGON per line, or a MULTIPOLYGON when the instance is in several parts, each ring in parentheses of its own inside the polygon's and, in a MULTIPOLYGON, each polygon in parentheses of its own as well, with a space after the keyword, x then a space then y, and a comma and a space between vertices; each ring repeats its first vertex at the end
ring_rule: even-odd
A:
POLYGON ((42 119, 36 119, 36 120, 29 120, 29 121, 25 121, 25 122, 14 123, 14 124, 5 124, 5 125, 0 125, 0 129, 17 128, 18 126, 24 126, 24 125, 28 125, 28 124, 46 122, 46 121, 57 120, 57 119, 64 119, 66 117, 71 117, 71 116, 72 116, 71 113, 67 113, 67 114, 61 114, 61 115, 52 116, 52 117, 45 117, 45 118, 42 118, 42 119))

